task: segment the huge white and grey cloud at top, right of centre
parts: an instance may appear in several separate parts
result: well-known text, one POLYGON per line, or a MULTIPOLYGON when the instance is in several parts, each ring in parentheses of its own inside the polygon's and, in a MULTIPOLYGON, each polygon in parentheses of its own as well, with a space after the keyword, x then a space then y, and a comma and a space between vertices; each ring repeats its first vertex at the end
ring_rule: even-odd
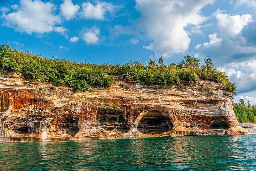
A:
POLYGON ((156 56, 164 57, 185 52, 191 39, 184 27, 203 23, 206 17, 200 14, 200 9, 212 2, 213 0, 136 0, 135 8, 141 13, 136 25, 153 41, 144 48, 155 51, 156 56))

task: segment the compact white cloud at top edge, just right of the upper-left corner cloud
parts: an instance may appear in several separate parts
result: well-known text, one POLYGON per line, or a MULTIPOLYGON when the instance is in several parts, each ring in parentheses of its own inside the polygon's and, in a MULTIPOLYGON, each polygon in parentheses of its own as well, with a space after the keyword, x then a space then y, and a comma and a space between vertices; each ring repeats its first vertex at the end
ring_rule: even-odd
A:
POLYGON ((71 0, 64 0, 63 4, 60 5, 61 14, 65 19, 73 19, 76 15, 76 12, 80 9, 79 5, 74 5, 71 0))

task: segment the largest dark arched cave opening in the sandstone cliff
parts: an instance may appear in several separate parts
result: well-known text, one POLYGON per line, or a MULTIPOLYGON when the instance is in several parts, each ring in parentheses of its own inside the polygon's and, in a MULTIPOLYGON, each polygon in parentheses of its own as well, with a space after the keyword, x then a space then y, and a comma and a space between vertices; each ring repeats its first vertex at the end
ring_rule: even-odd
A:
POLYGON ((161 134, 173 127, 167 112, 151 110, 139 121, 137 129, 143 134, 161 134))

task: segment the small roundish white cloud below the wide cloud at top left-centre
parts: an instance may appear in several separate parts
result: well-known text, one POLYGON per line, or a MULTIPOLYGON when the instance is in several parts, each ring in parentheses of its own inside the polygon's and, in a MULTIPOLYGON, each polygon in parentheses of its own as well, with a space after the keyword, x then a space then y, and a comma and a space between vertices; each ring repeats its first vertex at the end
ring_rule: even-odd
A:
POLYGON ((87 32, 83 33, 83 40, 87 45, 97 44, 100 41, 98 35, 100 34, 100 29, 94 27, 93 29, 87 30, 87 32))

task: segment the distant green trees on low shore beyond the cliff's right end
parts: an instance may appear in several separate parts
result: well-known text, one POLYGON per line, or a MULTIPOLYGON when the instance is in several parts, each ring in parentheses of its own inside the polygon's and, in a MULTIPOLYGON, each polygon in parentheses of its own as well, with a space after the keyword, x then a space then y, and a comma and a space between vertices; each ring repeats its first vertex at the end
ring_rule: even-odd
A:
POLYGON ((245 104, 244 99, 240 99, 239 103, 233 103, 233 108, 238 122, 256 122, 256 106, 252 106, 250 101, 245 104))

